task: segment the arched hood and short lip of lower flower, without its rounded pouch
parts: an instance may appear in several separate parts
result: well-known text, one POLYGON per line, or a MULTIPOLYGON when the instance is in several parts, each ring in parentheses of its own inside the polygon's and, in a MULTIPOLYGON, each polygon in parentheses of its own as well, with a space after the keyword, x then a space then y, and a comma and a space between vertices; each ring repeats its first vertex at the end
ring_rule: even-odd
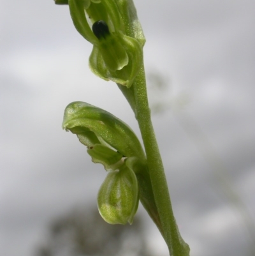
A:
POLYGON ((145 153, 128 124, 103 109, 85 102, 70 103, 64 111, 62 128, 77 134, 95 163, 115 170, 122 157, 136 156, 145 163, 145 153))

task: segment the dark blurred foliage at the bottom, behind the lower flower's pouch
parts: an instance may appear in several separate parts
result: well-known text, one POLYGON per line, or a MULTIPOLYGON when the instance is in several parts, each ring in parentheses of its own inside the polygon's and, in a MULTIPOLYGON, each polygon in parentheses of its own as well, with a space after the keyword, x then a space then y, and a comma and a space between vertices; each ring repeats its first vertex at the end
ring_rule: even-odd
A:
POLYGON ((49 227, 45 243, 36 256, 150 256, 143 225, 136 216, 133 225, 110 225, 98 209, 75 209, 57 218, 49 227))

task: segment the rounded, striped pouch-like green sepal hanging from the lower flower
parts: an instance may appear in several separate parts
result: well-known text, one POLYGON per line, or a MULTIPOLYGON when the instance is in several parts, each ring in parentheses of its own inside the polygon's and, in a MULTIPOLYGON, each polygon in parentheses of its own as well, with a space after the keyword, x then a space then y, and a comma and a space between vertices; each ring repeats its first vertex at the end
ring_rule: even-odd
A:
POLYGON ((138 199, 135 173, 124 165, 120 170, 109 172, 99 188, 99 213, 110 224, 132 224, 138 199))

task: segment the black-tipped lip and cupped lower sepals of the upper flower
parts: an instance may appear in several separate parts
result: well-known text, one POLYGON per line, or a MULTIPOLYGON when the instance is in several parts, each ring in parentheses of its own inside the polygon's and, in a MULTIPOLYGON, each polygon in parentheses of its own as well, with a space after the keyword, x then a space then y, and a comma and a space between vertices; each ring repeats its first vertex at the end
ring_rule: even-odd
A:
POLYGON ((143 51, 140 43, 122 33, 110 33, 103 20, 92 26, 99 44, 94 45, 89 65, 92 72, 105 80, 131 87, 140 71, 143 51))

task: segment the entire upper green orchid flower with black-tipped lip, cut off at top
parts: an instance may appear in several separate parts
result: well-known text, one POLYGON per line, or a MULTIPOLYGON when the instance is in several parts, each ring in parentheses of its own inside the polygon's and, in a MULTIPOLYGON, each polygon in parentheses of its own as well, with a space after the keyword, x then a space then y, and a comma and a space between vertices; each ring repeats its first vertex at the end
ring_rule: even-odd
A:
POLYGON ((131 87, 143 63, 145 43, 134 7, 127 1, 116 0, 55 0, 55 3, 69 4, 77 31, 93 44, 89 57, 92 72, 101 79, 131 87))

